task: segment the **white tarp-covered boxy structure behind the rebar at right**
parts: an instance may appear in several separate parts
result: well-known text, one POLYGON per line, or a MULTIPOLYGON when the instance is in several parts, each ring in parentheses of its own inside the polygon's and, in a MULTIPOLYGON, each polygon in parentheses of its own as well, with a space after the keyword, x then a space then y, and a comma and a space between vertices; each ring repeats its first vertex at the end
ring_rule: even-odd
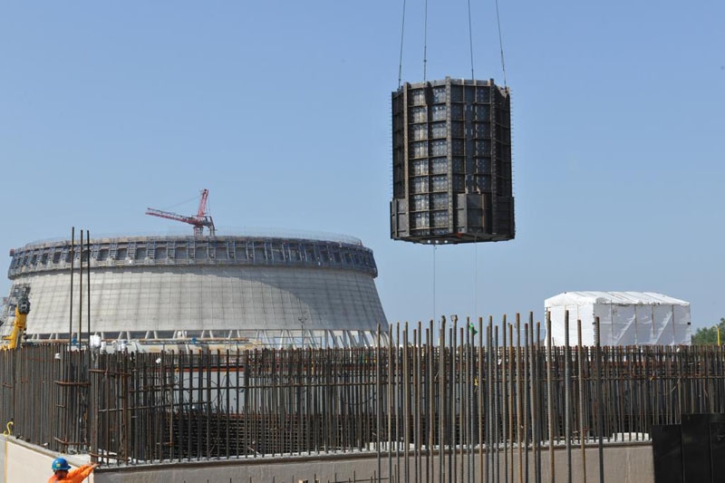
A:
POLYGON ((565 312, 569 311, 569 345, 577 343, 576 321, 582 321, 582 343, 594 345, 599 317, 602 345, 690 345, 690 303, 653 292, 565 292, 544 301, 551 314, 555 345, 565 345, 565 312))

